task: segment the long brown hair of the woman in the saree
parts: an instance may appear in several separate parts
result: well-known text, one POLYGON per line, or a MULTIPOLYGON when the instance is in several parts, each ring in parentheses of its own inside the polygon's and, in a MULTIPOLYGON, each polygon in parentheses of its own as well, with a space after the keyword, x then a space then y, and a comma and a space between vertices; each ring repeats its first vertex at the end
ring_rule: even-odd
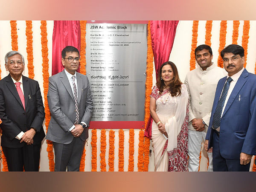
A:
POLYGON ((179 96, 181 95, 181 81, 179 78, 179 74, 178 74, 178 70, 177 67, 175 66, 175 64, 172 61, 167 61, 165 63, 163 63, 159 69, 158 72, 158 77, 157 77, 157 88, 160 91, 160 94, 163 93, 163 89, 164 87, 166 87, 167 89, 169 89, 170 93, 172 96, 179 96), (165 65, 170 65, 172 67, 172 71, 173 71, 173 79, 171 81, 171 83, 169 84, 169 86, 165 86, 163 79, 161 79, 162 77, 162 68, 165 65))

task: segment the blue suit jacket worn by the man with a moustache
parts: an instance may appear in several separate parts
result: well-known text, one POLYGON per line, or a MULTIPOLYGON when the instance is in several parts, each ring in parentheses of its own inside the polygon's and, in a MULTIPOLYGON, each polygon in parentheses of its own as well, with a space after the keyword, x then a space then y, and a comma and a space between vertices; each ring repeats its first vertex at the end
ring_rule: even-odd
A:
MULTIPOLYGON (((208 148, 212 147, 213 114, 226 80, 227 77, 220 79, 216 88, 206 135, 206 140, 209 140, 208 148)), ((219 148, 221 156, 226 159, 239 159, 241 152, 256 154, 256 75, 245 69, 236 82, 221 117, 219 148)))

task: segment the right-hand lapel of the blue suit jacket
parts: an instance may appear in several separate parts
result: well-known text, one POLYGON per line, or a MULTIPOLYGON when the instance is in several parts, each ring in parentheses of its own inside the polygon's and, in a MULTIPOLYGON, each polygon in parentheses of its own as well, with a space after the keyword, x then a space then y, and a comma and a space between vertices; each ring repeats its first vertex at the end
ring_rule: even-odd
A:
POLYGON ((222 116, 224 116, 224 114, 230 108, 230 105, 233 103, 237 94, 239 93, 239 91, 243 87, 244 83, 247 81, 247 79, 246 79, 247 76, 248 76, 248 72, 247 72, 247 70, 244 69, 243 73, 241 74, 241 76, 237 80, 236 85, 235 85, 234 89, 232 90, 229 99, 227 100, 227 105, 224 109, 224 112, 223 112, 222 116))

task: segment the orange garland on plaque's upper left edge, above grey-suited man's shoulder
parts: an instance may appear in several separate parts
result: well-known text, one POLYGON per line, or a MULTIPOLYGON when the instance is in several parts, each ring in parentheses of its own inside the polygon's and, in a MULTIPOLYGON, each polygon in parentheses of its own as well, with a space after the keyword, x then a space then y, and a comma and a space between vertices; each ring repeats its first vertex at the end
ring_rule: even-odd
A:
POLYGON ((85 48, 86 48, 86 20, 80 20, 80 28, 81 28, 81 61, 80 61, 80 73, 86 74, 86 57, 85 57, 85 48))

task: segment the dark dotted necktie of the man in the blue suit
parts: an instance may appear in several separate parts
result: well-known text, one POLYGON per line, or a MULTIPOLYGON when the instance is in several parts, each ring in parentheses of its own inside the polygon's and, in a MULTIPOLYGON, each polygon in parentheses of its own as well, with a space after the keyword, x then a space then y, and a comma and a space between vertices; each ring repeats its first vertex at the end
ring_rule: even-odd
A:
POLYGON ((223 109, 223 106, 224 106, 224 103, 225 103, 225 100, 227 97, 227 91, 230 87, 231 81, 233 81, 233 79, 231 77, 227 78, 227 81, 226 81, 223 91, 221 93, 221 98, 218 101, 216 111, 213 115, 212 128, 214 128, 214 129, 217 129, 221 124, 221 113, 222 113, 222 109, 223 109))

